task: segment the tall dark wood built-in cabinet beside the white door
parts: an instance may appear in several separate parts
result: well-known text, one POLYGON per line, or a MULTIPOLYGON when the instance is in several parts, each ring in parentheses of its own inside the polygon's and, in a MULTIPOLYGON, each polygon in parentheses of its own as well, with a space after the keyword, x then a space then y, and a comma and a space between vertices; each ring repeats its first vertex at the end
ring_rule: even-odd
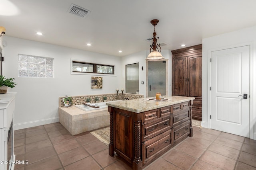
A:
POLYGON ((192 118, 202 120, 202 44, 172 51, 172 95, 195 97, 192 118))

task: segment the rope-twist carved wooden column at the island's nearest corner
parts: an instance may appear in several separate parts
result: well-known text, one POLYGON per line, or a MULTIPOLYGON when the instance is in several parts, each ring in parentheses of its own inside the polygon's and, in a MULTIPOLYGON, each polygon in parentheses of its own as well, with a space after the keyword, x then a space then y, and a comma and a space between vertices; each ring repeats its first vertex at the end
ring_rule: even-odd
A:
POLYGON ((140 159, 140 122, 134 121, 134 160, 132 162, 133 170, 142 169, 142 161, 140 159))

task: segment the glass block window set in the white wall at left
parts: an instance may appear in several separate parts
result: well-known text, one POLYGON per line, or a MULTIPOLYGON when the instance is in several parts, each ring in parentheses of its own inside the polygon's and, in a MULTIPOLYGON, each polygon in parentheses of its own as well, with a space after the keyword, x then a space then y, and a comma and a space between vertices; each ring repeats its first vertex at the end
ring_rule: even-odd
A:
POLYGON ((54 77, 54 59, 18 54, 18 77, 54 77))

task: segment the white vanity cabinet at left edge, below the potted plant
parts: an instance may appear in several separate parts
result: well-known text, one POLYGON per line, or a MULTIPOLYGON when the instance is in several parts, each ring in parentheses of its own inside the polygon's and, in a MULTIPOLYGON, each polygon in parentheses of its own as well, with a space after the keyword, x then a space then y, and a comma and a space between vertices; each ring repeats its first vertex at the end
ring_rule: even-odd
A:
POLYGON ((16 93, 0 94, 0 170, 14 169, 14 130, 12 123, 15 95, 16 93), (9 143, 8 134, 10 136, 9 143))

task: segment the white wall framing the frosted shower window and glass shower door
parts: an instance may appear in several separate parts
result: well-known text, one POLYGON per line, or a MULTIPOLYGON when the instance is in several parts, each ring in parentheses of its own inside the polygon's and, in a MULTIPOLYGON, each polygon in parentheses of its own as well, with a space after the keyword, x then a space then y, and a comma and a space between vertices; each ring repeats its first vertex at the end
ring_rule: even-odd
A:
MULTIPOLYGON (((140 51, 138 53, 134 53, 132 55, 128 55, 125 57, 122 57, 122 63, 121 67, 124 68, 122 69, 122 81, 121 81, 121 86, 119 89, 124 88, 125 89, 125 65, 127 64, 133 64, 133 63, 139 63, 139 92, 140 94, 143 94, 144 97, 146 97, 146 57, 149 54, 148 51, 140 51), (142 70, 143 66, 143 70, 142 70), (144 82, 144 84, 141 84, 141 82, 144 82)), ((165 59, 168 59, 168 95, 172 95, 172 52, 170 50, 162 50, 161 51, 162 56, 165 59)))

